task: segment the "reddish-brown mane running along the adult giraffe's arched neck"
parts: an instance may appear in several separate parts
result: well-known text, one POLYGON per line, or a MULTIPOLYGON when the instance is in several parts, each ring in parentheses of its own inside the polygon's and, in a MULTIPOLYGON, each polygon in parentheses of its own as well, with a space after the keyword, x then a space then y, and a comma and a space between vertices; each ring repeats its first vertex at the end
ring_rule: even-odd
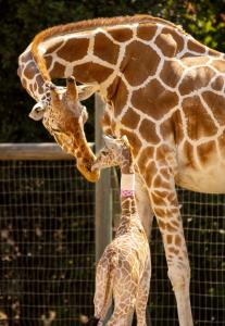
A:
MULTIPOLYGON (((93 18, 87 21, 80 21, 75 23, 68 23, 65 25, 58 25, 53 27, 49 27, 39 34, 37 34, 32 43, 32 54, 34 60, 46 80, 51 80, 49 72, 47 70, 46 60, 45 58, 39 54, 38 46, 43 42, 45 40, 51 38, 52 36, 57 35, 64 35, 67 33, 76 33, 76 32, 85 32, 85 30, 92 30, 98 27, 108 27, 108 26, 115 26, 115 25, 123 25, 128 23, 161 23, 163 25, 179 28, 177 25, 167 22, 160 17, 153 17, 151 15, 138 14, 134 16, 117 16, 117 17, 101 17, 101 18, 93 18)), ((182 29, 182 28, 179 28, 182 29)))

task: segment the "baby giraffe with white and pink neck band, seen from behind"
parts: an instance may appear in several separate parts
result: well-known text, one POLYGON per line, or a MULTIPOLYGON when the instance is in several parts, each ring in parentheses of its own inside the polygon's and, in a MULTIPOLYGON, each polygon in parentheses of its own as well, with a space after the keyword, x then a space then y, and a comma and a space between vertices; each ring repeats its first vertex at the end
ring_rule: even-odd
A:
POLYGON ((150 283, 150 249, 135 201, 135 174, 126 137, 104 137, 105 147, 97 155, 92 171, 120 165, 122 216, 115 239, 105 248, 97 266, 95 319, 103 325, 114 300, 108 326, 130 325, 136 310, 137 325, 147 325, 146 306, 150 283))

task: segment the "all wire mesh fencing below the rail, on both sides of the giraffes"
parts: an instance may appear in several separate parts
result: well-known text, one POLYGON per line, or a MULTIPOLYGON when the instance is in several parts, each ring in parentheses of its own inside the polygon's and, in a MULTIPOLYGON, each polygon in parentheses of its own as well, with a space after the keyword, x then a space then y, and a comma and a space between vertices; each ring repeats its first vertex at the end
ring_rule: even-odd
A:
MULTIPOLYGON (((118 221, 115 173, 112 181, 113 216, 118 221)), ((93 311, 93 185, 71 161, 0 161, 0 325, 82 325, 93 311)), ((178 196, 195 325, 224 325, 225 196, 182 189, 178 196)), ((155 221, 151 253, 152 326, 178 325, 155 221)))

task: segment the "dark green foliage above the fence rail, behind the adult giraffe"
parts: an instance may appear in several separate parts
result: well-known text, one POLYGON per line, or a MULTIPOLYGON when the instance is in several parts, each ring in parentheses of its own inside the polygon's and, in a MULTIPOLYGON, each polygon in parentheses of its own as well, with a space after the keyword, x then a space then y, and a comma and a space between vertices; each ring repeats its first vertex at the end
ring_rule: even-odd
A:
MULTIPOLYGON (((51 139, 40 123, 28 118, 34 100, 16 75, 17 57, 41 29, 97 16, 149 13, 182 24, 200 41, 225 51, 224 7, 221 0, 0 0, 0 141, 51 139)), ((93 134, 92 120, 90 114, 86 127, 89 139, 93 134)))

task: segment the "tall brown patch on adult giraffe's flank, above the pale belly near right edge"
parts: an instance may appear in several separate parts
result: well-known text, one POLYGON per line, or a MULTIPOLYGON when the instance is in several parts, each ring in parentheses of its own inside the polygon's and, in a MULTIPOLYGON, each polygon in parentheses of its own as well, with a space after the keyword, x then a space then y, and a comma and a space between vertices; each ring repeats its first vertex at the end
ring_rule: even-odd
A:
POLYGON ((183 101, 183 111, 187 120, 187 133, 190 139, 213 136, 217 128, 207 113, 199 97, 195 96, 183 101))

